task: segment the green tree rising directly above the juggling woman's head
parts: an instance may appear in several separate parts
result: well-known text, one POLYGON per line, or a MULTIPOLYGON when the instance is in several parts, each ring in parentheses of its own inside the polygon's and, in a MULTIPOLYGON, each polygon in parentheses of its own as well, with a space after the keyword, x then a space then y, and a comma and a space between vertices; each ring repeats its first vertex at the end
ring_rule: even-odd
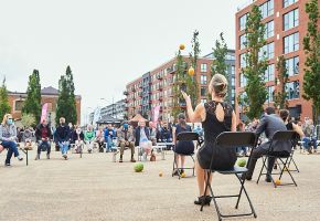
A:
POLYGON ((220 33, 220 40, 215 41, 215 48, 213 48, 213 57, 214 61, 211 65, 211 76, 215 74, 222 74, 225 77, 227 76, 228 65, 225 63, 225 56, 227 54, 227 45, 223 38, 223 32, 220 33))

